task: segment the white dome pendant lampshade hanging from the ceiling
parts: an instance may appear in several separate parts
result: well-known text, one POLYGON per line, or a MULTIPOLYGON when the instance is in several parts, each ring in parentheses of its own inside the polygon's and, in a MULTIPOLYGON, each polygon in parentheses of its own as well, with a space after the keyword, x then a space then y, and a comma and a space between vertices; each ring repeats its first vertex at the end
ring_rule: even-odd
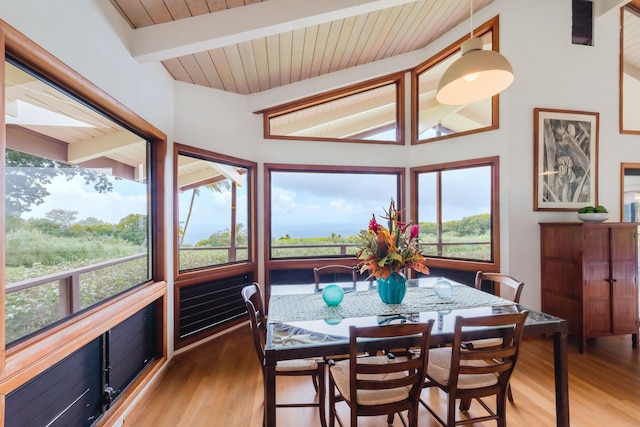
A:
POLYGON ((498 52, 483 50, 482 39, 467 40, 461 52, 462 56, 451 64, 438 83, 436 100, 439 103, 470 104, 502 92, 513 82, 509 61, 498 52))

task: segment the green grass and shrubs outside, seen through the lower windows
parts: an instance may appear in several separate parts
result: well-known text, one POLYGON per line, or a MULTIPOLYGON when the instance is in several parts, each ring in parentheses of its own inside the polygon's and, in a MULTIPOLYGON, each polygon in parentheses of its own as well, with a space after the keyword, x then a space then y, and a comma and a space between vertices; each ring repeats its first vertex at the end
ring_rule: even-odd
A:
MULTIPOLYGON (((421 235, 421 241, 431 243, 435 235, 421 235)), ((488 233, 481 236, 458 237, 445 233, 443 241, 461 243, 444 246, 444 255, 459 259, 489 259, 490 245, 471 245, 468 242, 489 241, 488 233)), ((70 238, 51 236, 38 230, 17 230, 7 233, 6 282, 17 283, 122 258, 139 253, 140 247, 124 240, 104 238, 70 238)), ((346 237, 331 238, 281 238, 273 242, 272 256, 275 258, 303 258, 339 256, 346 248, 348 255, 357 251, 357 246, 346 237), (309 245, 337 245, 310 247, 309 245), (294 247, 279 247, 294 246, 294 247)), ((426 244, 425 255, 435 255, 435 247, 426 244)), ((237 259, 247 259, 246 249, 238 250, 237 259)), ((183 250, 180 251, 180 270, 221 265, 228 262, 227 250, 183 250)), ((124 262, 115 266, 80 275, 80 307, 91 307, 142 283, 149 277, 147 257, 124 262)), ((6 296, 7 342, 45 328, 67 316, 60 309, 59 284, 57 281, 12 292, 6 296)))

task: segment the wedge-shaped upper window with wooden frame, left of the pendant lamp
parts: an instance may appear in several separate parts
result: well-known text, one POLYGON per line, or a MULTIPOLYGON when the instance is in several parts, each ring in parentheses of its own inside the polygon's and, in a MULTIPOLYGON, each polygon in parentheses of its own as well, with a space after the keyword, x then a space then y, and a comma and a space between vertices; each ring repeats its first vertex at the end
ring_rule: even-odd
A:
POLYGON ((265 138, 404 143, 404 77, 386 76, 260 111, 265 138))

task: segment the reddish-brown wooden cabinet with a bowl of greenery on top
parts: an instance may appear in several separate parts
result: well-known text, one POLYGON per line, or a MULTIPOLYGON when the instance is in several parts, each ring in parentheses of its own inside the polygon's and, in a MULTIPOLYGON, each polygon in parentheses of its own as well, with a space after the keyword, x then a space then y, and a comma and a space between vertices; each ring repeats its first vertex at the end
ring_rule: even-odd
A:
POLYGON ((541 223, 542 311, 587 338, 638 340, 638 228, 633 223, 541 223))

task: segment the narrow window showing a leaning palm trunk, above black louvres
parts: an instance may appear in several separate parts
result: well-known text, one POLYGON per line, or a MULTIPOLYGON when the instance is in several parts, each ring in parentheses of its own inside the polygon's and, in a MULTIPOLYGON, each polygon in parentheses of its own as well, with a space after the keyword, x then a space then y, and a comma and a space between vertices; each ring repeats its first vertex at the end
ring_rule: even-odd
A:
POLYGON ((251 260, 255 163, 175 148, 178 270, 251 260))

